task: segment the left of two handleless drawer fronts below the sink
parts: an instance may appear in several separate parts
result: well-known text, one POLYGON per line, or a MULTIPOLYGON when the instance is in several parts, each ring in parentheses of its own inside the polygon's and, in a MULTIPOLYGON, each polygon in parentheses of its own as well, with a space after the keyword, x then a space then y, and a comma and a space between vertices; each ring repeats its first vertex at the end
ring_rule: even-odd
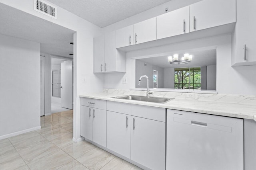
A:
POLYGON ((107 101, 107 110, 131 115, 131 104, 107 101))

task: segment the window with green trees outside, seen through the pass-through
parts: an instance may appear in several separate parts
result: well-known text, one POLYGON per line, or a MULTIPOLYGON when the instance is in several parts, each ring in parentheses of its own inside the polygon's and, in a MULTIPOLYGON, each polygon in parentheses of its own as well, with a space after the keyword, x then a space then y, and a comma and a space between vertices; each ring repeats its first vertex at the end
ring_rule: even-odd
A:
POLYGON ((174 88, 201 89, 201 68, 175 68, 174 88))

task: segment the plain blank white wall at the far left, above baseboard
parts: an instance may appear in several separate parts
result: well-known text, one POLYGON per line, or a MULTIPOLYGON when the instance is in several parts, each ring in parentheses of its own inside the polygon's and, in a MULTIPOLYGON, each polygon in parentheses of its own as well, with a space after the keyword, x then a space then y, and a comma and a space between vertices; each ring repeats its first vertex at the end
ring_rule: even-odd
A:
POLYGON ((0 139, 40 128, 40 43, 0 34, 0 139))

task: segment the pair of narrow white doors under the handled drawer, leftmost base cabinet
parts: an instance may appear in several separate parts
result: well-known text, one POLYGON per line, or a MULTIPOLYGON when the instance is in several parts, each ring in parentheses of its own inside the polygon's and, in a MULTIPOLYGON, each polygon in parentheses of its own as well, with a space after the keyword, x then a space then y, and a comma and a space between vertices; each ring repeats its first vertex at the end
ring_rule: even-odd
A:
POLYGON ((106 147, 106 110, 81 106, 80 135, 106 147))

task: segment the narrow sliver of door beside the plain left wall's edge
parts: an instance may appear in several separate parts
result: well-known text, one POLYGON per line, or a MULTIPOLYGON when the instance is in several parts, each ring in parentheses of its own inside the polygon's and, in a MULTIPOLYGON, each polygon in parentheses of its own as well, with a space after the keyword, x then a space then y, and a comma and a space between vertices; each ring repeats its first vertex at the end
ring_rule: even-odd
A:
POLYGON ((44 105, 45 105, 45 101, 44 101, 44 93, 45 93, 45 57, 41 56, 40 57, 40 115, 44 116, 44 105))

